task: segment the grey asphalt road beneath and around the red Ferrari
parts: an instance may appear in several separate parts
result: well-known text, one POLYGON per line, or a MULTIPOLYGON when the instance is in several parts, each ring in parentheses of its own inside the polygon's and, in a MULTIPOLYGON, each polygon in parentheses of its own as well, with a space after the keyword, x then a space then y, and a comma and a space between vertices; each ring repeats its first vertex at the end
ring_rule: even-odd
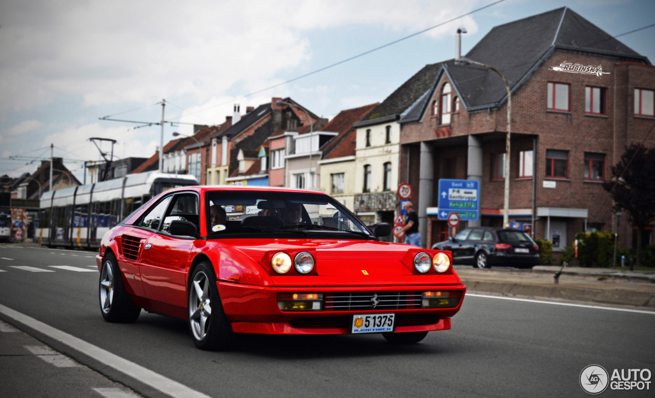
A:
MULTIPOLYGON (((103 321, 94 254, 0 245, 0 305, 212 397, 586 397, 578 380, 591 364, 610 375, 615 368, 648 368, 655 376, 655 313, 481 296, 465 298, 451 330, 411 346, 377 335, 244 335, 232 351, 200 351, 185 321, 145 311, 134 324, 103 321)), ((48 328, 26 327, 1 311, 0 319, 142 396, 168 396, 127 368, 112 368, 48 336, 48 328)), ((0 332, 0 342, 7 341, 0 332)), ((3 363, 13 360, 2 355, 3 363)), ((18 359, 15 365, 28 366, 18 359)), ((5 370, 0 396, 32 391, 29 396, 39 397, 48 388, 67 388, 47 384, 58 378, 48 372, 16 393, 5 370)), ((608 388, 601 396, 652 397, 653 388, 608 388)))

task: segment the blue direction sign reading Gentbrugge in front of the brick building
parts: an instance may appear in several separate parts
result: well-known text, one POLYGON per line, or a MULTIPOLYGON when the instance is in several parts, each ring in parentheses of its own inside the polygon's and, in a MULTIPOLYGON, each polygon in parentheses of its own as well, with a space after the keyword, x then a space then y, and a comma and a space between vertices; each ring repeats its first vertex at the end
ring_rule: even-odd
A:
POLYGON ((480 182, 477 180, 439 180, 439 219, 457 213, 460 220, 476 221, 480 214, 480 182))

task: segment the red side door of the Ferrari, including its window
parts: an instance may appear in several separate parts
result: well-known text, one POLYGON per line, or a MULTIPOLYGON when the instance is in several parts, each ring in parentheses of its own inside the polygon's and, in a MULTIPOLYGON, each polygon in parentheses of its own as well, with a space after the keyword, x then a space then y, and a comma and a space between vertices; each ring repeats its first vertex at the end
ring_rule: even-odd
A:
POLYGON ((172 221, 190 221, 198 228, 199 205, 195 193, 171 195, 143 218, 157 227, 143 247, 140 270, 145 296, 150 300, 187 306, 187 264, 195 239, 170 233, 172 221), (159 209, 158 209, 159 208, 159 209))

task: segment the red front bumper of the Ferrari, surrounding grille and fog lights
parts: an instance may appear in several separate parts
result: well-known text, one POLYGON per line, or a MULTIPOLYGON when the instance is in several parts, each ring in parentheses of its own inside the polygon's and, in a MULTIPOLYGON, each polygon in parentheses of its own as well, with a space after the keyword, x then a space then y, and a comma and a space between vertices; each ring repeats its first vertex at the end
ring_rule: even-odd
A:
MULTIPOLYGON (((354 314, 396 313, 395 332, 446 330, 450 318, 459 311, 466 287, 457 285, 384 286, 384 287, 256 287, 224 281, 217 282, 221 302, 232 329, 257 334, 349 334, 354 314), (454 308, 384 308, 322 311, 282 311, 278 293, 393 292, 455 290, 462 296, 454 308)), ((411 307, 411 306, 409 306, 411 307)))

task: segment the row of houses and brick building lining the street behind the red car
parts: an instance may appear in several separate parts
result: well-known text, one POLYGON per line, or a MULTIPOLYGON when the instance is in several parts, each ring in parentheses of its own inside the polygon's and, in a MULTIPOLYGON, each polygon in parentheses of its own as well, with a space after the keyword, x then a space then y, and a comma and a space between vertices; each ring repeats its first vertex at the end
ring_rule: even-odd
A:
MULTIPOLYGON (((618 230, 603 189, 627 145, 655 146, 655 68, 601 28, 564 7, 496 26, 465 55, 493 66, 512 93, 507 156, 506 86, 493 70, 441 60, 424 66, 383 102, 330 121, 291 98, 239 105, 221 125, 197 127, 164 146, 166 172, 200 184, 286 186, 323 191, 367 224, 392 223, 398 184, 413 187, 422 245, 447 237, 438 180, 477 180, 480 216, 466 226, 501 226, 504 170, 509 216, 554 249, 578 231, 618 230)), ((133 172, 157 170, 159 153, 133 172)), ((652 243, 652 228, 642 242, 652 243)))

